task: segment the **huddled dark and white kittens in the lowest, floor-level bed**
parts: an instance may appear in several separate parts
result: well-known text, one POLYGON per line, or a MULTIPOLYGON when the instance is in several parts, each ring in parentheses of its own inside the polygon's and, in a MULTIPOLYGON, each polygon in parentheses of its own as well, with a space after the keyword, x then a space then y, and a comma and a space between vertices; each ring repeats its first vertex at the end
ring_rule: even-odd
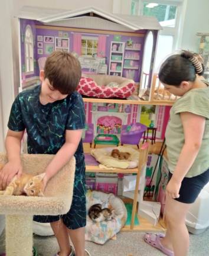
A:
POLYGON ((102 209, 102 204, 93 204, 93 206, 89 208, 88 215, 94 222, 102 222, 113 218, 113 210, 109 208, 102 209))

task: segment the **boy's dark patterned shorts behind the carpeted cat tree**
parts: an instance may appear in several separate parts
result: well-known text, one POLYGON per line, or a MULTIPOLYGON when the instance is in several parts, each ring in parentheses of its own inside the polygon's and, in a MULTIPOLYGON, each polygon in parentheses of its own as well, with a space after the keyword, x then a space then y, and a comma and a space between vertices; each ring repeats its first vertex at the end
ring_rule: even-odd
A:
MULTIPOLYGON (((48 223, 62 219, 68 229, 83 228, 86 226, 86 187, 85 167, 84 171, 79 170, 82 176, 75 174, 73 200, 68 213, 58 216, 34 216, 36 222, 48 223)), ((77 170, 76 170, 77 173, 77 170)))

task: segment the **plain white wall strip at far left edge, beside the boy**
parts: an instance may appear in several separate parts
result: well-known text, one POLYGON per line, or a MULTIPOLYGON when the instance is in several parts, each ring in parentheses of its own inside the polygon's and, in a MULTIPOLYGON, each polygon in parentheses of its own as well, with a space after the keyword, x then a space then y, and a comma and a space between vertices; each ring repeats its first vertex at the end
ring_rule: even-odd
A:
POLYGON ((1 1, 0 8, 0 151, 4 151, 4 137, 12 101, 14 100, 14 72, 12 60, 12 0, 1 1))

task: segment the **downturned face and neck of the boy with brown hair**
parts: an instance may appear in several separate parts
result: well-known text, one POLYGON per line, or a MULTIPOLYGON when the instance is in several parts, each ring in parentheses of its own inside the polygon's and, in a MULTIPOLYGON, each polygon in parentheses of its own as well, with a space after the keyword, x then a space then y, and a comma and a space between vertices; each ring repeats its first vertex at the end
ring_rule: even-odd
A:
POLYGON ((53 103, 54 101, 63 100, 68 94, 61 94, 60 91, 54 89, 48 81, 48 78, 44 78, 44 71, 40 71, 41 84, 41 97, 45 103, 53 103))

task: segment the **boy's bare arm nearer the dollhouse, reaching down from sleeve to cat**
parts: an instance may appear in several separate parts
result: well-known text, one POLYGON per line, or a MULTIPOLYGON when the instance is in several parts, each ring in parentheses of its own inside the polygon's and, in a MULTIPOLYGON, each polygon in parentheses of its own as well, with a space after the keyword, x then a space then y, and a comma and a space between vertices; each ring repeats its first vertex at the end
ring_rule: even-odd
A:
POLYGON ((66 130, 66 142, 56 153, 50 164, 45 169, 44 183, 53 177, 74 155, 81 140, 83 130, 66 130))

